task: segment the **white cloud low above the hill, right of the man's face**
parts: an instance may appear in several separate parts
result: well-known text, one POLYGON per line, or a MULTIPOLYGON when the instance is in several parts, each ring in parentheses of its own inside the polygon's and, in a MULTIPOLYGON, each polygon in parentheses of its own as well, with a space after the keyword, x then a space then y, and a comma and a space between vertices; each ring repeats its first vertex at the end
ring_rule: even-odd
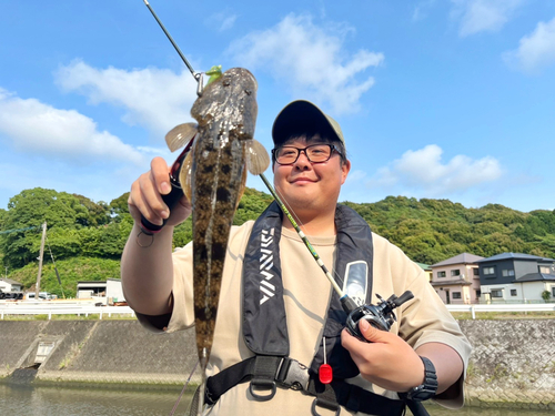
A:
POLYGON ((500 162, 491 156, 473 160, 456 155, 442 163, 443 150, 430 144, 416 151, 406 151, 401 159, 381 168, 367 182, 370 187, 418 190, 424 196, 447 195, 493 182, 503 174, 500 162))

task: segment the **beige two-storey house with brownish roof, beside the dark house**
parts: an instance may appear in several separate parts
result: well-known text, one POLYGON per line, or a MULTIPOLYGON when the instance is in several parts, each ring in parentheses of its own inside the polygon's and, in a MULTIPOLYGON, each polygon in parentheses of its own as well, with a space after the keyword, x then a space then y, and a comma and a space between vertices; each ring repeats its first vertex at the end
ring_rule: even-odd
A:
POLYGON ((477 303, 481 296, 478 255, 463 253, 432 264, 432 286, 445 304, 477 303))

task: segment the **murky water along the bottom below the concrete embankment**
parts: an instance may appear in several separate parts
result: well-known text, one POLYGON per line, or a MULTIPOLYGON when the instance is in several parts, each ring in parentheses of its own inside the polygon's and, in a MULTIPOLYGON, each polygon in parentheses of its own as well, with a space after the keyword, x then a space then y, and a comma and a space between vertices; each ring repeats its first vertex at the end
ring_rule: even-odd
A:
MULTIPOLYGON (((168 416, 180 390, 123 390, 70 387, 33 387, 0 384, 0 414, 10 416, 168 416)), ((192 393, 185 393, 175 415, 183 415, 192 393)), ((484 409, 447 410, 428 406, 431 416, 547 416, 553 412, 484 409)), ((407 412, 410 415, 410 412, 407 412)), ((285 416, 285 415, 284 415, 285 416)), ((309 415, 307 415, 309 416, 309 415)))

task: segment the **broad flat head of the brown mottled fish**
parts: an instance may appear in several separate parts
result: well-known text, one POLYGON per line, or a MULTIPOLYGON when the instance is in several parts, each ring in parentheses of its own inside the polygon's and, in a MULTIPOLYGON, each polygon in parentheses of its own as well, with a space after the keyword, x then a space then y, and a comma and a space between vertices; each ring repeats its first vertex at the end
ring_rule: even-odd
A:
POLYGON ((191 115, 199 126, 225 122, 235 130, 239 139, 250 140, 254 136, 256 123, 258 82, 254 75, 244 68, 232 68, 222 77, 211 82, 196 99, 191 115))

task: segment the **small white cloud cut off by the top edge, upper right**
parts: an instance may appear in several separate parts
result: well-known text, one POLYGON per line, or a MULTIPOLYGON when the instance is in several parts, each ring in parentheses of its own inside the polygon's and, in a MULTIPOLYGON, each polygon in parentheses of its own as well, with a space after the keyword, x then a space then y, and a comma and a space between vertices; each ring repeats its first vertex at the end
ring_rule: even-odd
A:
POLYGON ((526 0, 452 0, 452 17, 461 20, 458 34, 495 32, 513 17, 514 11, 526 0))

